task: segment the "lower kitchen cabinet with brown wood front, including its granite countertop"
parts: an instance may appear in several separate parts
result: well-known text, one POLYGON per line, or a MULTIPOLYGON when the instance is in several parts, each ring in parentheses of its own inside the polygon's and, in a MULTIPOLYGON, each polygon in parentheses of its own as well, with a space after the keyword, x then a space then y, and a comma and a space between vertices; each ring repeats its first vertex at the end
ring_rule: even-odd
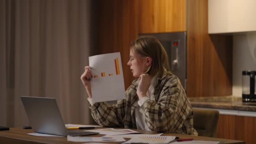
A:
POLYGON ((216 138, 246 141, 256 144, 256 104, 243 103, 242 96, 213 96, 189 98, 193 108, 218 110, 216 138))

